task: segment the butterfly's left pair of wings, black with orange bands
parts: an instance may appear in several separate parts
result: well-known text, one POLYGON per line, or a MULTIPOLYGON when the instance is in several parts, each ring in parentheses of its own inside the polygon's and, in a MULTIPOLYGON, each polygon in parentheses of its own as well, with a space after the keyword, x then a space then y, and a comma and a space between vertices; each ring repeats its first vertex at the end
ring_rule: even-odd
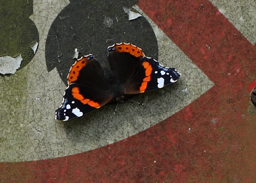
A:
POLYGON ((93 55, 77 60, 70 69, 67 81, 69 86, 62 105, 56 110, 57 120, 83 116, 113 99, 104 71, 93 55))

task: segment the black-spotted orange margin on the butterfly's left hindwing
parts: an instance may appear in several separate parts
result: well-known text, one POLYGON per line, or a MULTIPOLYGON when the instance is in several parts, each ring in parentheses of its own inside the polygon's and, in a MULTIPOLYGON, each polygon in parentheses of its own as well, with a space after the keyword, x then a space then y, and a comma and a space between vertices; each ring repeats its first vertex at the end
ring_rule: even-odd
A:
POLYGON ((71 84, 72 82, 77 80, 77 77, 79 76, 79 71, 86 66, 88 63, 87 57, 82 57, 81 59, 77 60, 69 71, 69 76, 67 76, 67 82, 68 84, 71 84))

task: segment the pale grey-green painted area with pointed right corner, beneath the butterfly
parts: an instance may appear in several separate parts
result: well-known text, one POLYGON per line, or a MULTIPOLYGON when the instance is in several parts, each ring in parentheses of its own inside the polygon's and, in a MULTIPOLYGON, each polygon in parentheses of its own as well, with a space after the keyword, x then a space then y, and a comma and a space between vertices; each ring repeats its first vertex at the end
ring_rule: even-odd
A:
MULTIPOLYGON (((141 11, 138 6, 134 8, 141 11)), ((38 22, 41 13, 36 16, 36 12, 39 10, 34 10, 33 20, 38 22)), ((177 84, 134 98, 143 102, 144 106, 126 102, 119 105, 118 112, 113 114, 115 105, 109 105, 81 119, 67 123, 59 122, 55 120, 54 111, 61 105, 66 86, 62 84, 56 68, 49 73, 45 69, 45 42, 41 41, 37 55, 27 66, 28 70, 20 70, 13 76, 22 78, 26 72, 26 82, 11 81, 12 76, 5 77, 7 81, 2 80, 2 85, 6 82, 17 82, 20 85, 16 87, 24 89, 20 89, 17 95, 17 89, 2 88, 2 106, 6 106, 3 107, 2 116, 8 116, 2 120, 2 128, 8 130, 2 134, 5 140, 1 144, 1 162, 73 155, 120 141, 166 119, 211 88, 213 82, 152 20, 148 21, 158 40, 159 62, 165 66, 175 67, 182 73, 182 78, 177 84), (7 95, 8 92, 13 94, 7 95), (8 105, 12 101, 13 104, 8 105), (15 102, 19 105, 15 105, 15 102), (7 115, 9 111, 12 111, 12 114, 7 115)), ((51 26, 52 22, 48 19, 45 19, 45 23, 42 23, 42 20, 40 22, 42 26, 38 25, 38 32, 44 37, 48 32, 45 27, 51 26)), ((74 48, 70 50, 73 52, 74 48)), ((102 52, 105 53, 105 50, 102 52)))

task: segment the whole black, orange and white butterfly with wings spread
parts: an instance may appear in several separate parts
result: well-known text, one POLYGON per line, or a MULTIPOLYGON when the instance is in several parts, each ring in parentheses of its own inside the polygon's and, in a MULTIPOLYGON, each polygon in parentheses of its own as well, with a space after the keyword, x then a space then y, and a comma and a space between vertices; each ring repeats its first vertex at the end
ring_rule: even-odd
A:
POLYGON ((123 101, 125 95, 163 88, 180 77, 177 70, 146 57, 135 45, 115 44, 108 52, 110 70, 103 69, 91 54, 72 65, 67 76, 69 86, 56 110, 57 120, 83 116, 112 100, 123 101))

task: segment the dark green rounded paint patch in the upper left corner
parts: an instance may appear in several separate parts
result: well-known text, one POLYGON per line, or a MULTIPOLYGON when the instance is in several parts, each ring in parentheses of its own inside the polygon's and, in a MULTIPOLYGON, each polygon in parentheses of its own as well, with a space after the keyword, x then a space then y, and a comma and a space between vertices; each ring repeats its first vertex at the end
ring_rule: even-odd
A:
POLYGON ((22 53, 20 68, 34 56, 31 46, 39 41, 37 27, 29 19, 33 14, 31 0, 1 0, 0 6, 0 56, 15 58, 22 53))

